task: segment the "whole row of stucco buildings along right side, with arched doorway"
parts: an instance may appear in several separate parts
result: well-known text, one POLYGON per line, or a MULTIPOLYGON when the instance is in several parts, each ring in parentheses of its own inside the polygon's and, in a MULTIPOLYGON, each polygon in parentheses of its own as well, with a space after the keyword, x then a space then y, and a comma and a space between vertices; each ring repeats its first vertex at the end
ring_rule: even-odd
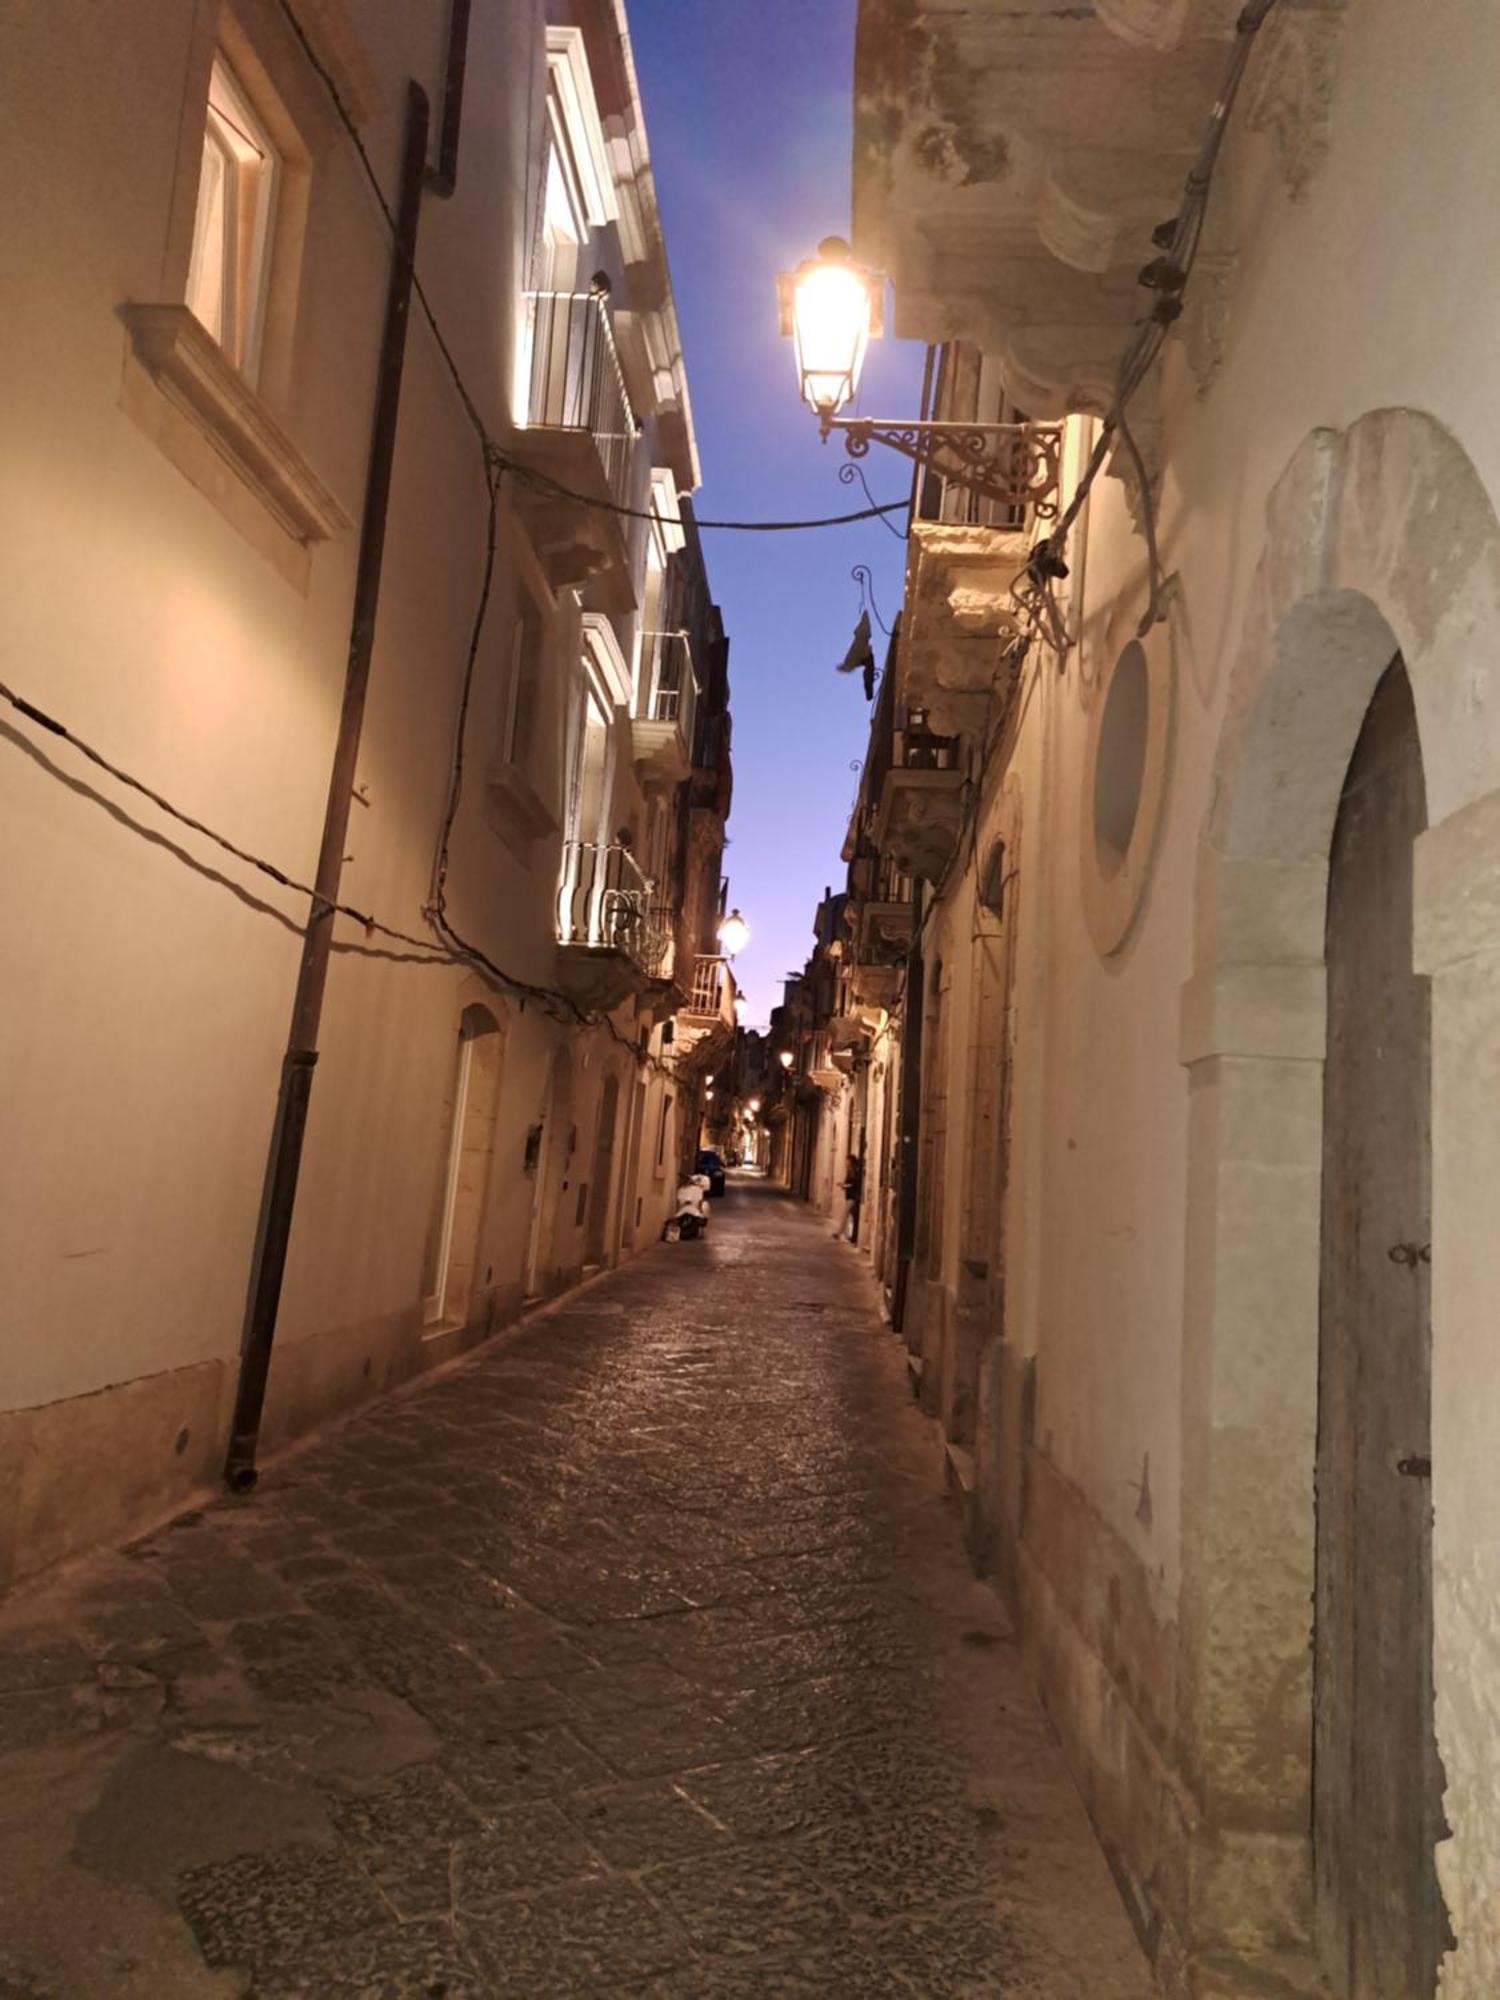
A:
POLYGON ((856 258, 924 414, 1044 474, 918 486, 822 1116, 1198 2000, 1500 1984, 1496 58, 1398 0, 860 6, 856 258))

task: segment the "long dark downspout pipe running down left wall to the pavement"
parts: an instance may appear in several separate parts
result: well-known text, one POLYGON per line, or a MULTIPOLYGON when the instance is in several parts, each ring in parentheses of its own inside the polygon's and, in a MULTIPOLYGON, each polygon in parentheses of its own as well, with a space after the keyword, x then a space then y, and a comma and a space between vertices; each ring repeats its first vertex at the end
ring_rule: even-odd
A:
POLYGON ((412 80, 406 86, 406 138, 402 146, 400 192, 396 196, 396 246, 390 266, 390 286, 386 290, 386 326, 380 340, 370 464, 364 478, 360 556, 354 572, 354 612, 350 618, 348 666, 344 670, 344 706, 338 716, 338 740, 328 774, 328 804, 324 806, 318 872, 314 876, 308 922, 302 932, 302 962, 292 996, 292 1024, 286 1038, 286 1056, 282 1058, 276 1126, 266 1166, 260 1240, 250 1274, 250 1306, 240 1354, 240 1382, 224 1464, 224 1480, 232 1492, 250 1492, 258 1476, 260 1420, 266 1408, 266 1382, 276 1342, 286 1248, 292 1236, 302 1140, 308 1128, 308 1098, 312 1096, 312 1070, 318 1062, 318 1030, 322 1026, 322 1002, 328 984, 328 954, 334 942, 334 904, 338 902, 344 874, 348 820, 354 800, 354 780, 358 776, 360 730, 364 724, 364 698, 370 686, 370 654, 374 650, 380 570, 386 554, 386 522, 390 516, 390 482, 396 462, 396 420, 400 416, 402 372, 406 366, 406 326, 412 310, 416 230, 422 216, 422 186, 428 170, 426 156, 428 96, 412 80))

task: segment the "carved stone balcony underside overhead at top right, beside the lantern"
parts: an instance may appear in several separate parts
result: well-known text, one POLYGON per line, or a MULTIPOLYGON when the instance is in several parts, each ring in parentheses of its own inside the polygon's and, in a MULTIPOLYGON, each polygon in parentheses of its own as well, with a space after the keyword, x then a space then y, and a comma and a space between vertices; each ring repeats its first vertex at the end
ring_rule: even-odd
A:
MULTIPOLYGON (((1030 416, 1100 414, 1240 12, 860 0, 854 248, 890 274, 896 332, 972 342, 1030 416)), ((1284 0, 1250 58, 1246 122, 1274 134, 1294 192, 1326 146, 1342 16, 1344 0, 1284 0)), ((1210 236, 1176 336, 1200 382, 1224 346, 1228 284, 1210 236)))

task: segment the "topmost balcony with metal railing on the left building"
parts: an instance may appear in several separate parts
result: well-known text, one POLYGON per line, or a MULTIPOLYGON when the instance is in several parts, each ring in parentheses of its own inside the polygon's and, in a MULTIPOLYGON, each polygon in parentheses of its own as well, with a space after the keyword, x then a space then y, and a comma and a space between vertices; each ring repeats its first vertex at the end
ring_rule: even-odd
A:
POLYGON ((636 424, 610 308, 596 292, 526 294, 526 422, 510 448, 538 482, 516 482, 520 508, 554 590, 596 582, 608 610, 636 602, 628 520, 636 424), (576 494, 578 498, 568 498, 576 494))

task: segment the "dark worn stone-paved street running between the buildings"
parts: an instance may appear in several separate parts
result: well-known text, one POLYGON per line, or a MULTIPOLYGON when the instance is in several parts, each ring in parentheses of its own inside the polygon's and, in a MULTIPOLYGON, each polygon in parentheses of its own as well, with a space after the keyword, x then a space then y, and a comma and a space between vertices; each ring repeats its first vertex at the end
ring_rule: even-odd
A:
POLYGON ((0 1618, 0 1996, 1150 1990, 864 1264, 758 1184, 0 1618))

